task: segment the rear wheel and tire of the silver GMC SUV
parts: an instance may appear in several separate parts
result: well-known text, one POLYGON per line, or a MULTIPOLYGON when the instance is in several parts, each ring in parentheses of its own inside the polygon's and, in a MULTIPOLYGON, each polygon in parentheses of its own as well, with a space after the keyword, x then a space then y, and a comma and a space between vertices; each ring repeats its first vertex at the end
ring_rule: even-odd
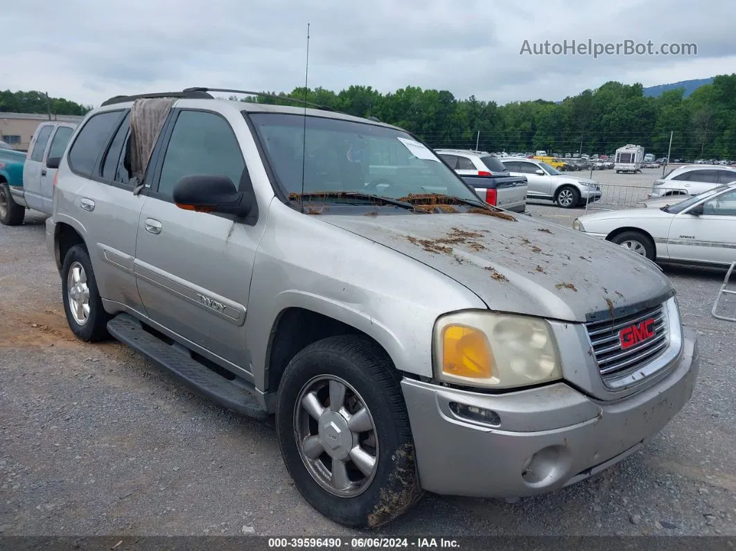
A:
POLYGON ((66 321, 77 338, 93 342, 109 336, 107 321, 110 320, 110 315, 102 307, 92 262, 83 245, 74 245, 64 257, 61 295, 66 321), (73 308, 73 304, 79 305, 79 308, 73 308), (82 311, 86 316, 82 315, 82 311))

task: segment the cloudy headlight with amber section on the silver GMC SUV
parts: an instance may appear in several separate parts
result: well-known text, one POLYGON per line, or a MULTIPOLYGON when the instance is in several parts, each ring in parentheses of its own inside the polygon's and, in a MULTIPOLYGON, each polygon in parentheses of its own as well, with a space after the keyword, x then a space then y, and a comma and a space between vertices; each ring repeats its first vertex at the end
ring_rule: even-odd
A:
POLYGON ((437 380, 486 388, 536 385, 562 378, 546 321, 492 312, 460 312, 434 329, 437 380))

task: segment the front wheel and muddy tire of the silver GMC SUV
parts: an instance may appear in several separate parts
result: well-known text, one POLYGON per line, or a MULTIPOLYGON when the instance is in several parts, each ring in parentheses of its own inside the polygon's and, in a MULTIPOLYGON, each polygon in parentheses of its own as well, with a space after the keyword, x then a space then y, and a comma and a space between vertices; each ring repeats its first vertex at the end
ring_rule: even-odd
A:
POLYGON ((368 338, 325 338, 294 356, 278 391, 276 431, 294 486, 312 507, 333 522, 354 528, 386 525, 406 513, 422 496, 398 374, 386 352, 368 338), (333 412, 329 405, 330 387, 339 385, 347 388, 345 408, 340 409, 343 413, 333 412), (319 399, 312 411, 319 414, 321 427, 302 406, 308 403, 304 397, 312 391, 319 399), (356 419, 361 403, 369 415, 361 415, 362 422, 354 427, 362 431, 358 438, 350 432, 346 419, 350 419, 350 413, 356 419), (332 426, 329 433, 323 428, 327 422, 332 426), (312 444, 308 445, 308 452, 316 459, 303 451, 302 443, 307 441, 312 444), (359 462, 362 470, 352 459, 355 442, 359 442, 360 448, 360 455, 356 456, 364 458, 359 462), (328 444, 332 448, 330 454, 324 451, 328 444), (346 455, 351 447, 350 455, 340 461, 348 467, 347 478, 339 477, 347 481, 347 486, 340 480, 333 483, 331 469, 339 463, 332 457, 346 455), (366 458, 375 461, 371 464, 366 458))

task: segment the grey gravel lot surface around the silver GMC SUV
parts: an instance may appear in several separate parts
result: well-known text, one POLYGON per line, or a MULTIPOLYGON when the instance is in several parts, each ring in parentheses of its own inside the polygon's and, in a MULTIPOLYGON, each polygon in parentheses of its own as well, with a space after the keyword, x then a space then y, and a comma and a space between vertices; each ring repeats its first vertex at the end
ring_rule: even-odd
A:
MULTIPOLYGON (((574 216, 530 210, 568 227, 574 216)), ((0 227, 0 533, 353 533, 297 494, 268 423, 199 399, 120 344, 77 341, 43 217, 27 219, 0 227)), ((647 447, 513 503, 427 495, 381 533, 736 535, 736 326, 710 316, 723 272, 668 274, 704 359, 693 399, 647 447)))

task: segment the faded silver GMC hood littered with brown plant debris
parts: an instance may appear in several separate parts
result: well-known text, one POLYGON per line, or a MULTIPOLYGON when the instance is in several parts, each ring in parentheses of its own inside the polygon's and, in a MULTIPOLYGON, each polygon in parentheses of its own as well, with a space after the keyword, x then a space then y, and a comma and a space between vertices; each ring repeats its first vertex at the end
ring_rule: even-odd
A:
POLYGON ((497 214, 512 219, 475 213, 320 219, 446 274, 491 310, 584 322, 674 294, 654 263, 623 247, 551 222, 497 214))

